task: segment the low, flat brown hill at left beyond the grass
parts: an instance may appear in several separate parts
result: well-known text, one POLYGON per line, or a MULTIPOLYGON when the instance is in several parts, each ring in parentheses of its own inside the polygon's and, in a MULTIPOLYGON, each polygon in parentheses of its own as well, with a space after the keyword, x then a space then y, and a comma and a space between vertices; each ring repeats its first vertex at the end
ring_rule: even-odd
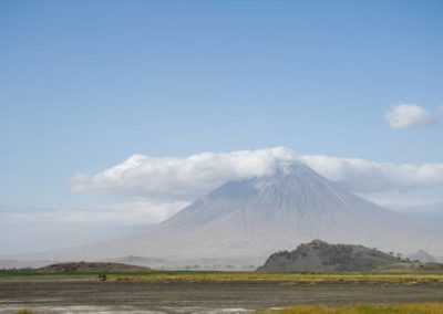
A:
POLYGON ((58 263, 38 269, 48 273, 71 272, 147 272, 150 268, 135 266, 122 263, 70 262, 58 263))

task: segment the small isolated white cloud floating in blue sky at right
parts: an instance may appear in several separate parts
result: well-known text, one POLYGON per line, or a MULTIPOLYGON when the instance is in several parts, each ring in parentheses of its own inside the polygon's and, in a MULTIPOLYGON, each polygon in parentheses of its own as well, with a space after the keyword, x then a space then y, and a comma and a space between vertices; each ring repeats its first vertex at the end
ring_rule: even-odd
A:
POLYGON ((431 113, 414 104, 401 104, 392 107, 384 114, 384 119, 394 129, 413 128, 436 122, 431 113))

